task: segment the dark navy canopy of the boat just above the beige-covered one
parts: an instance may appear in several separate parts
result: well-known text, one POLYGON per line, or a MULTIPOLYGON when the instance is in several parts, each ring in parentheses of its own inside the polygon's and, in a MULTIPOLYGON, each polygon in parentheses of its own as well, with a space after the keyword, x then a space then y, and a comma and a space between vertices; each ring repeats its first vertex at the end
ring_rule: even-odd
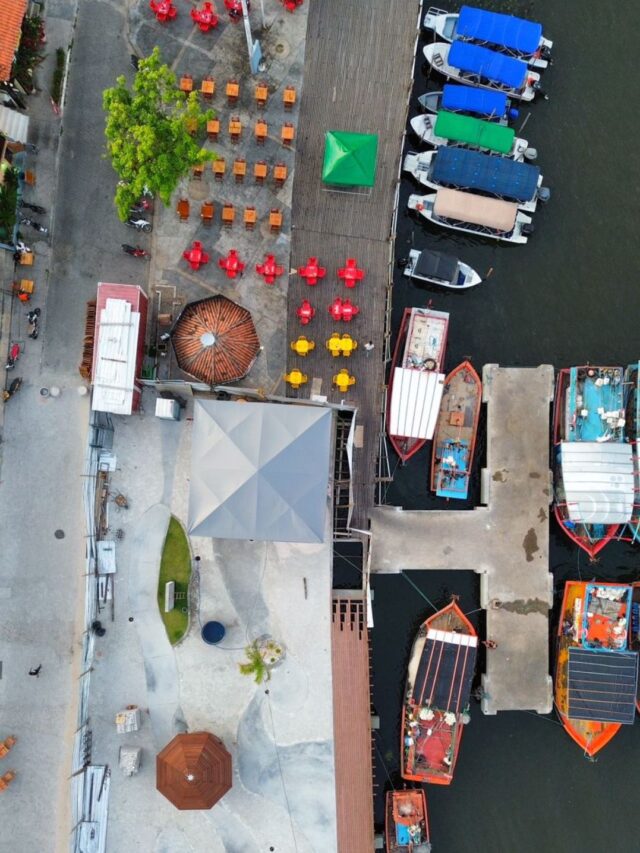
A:
POLYGON ((508 157, 492 157, 465 148, 438 148, 429 177, 436 184, 491 193, 509 201, 531 201, 540 169, 508 157))

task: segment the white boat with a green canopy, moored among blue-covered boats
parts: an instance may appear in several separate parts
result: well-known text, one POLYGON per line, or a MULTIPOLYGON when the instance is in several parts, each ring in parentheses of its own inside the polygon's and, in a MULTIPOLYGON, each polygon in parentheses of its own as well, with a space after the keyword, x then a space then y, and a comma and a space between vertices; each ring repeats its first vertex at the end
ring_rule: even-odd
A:
POLYGON ((409 124, 423 145, 434 148, 472 148, 518 161, 535 160, 538 156, 536 149, 531 148, 526 139, 517 137, 513 128, 472 116, 441 110, 436 115, 414 116, 409 124))

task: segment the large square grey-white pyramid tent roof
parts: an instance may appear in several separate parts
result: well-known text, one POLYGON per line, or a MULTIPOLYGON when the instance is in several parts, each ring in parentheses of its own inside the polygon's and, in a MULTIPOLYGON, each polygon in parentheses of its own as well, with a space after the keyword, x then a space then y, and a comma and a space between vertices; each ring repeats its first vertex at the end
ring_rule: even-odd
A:
POLYGON ((323 542, 331 436, 329 409, 197 400, 189 533, 323 542))

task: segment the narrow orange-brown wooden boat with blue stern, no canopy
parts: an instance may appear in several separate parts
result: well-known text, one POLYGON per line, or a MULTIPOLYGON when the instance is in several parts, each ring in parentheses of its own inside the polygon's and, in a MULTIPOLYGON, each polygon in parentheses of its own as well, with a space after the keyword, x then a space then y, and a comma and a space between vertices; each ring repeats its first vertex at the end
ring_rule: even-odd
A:
POLYGON ((481 403, 480 377, 463 361, 444 381, 433 439, 431 491, 439 498, 465 500, 469 494, 481 403))

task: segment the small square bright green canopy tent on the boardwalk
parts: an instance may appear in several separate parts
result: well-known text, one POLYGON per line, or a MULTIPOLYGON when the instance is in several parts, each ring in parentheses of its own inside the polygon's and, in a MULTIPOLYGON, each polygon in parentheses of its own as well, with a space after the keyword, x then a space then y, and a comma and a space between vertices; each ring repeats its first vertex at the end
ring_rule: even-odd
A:
POLYGON ((372 187, 376 178, 378 137, 374 133, 325 133, 322 181, 342 187, 372 187))

